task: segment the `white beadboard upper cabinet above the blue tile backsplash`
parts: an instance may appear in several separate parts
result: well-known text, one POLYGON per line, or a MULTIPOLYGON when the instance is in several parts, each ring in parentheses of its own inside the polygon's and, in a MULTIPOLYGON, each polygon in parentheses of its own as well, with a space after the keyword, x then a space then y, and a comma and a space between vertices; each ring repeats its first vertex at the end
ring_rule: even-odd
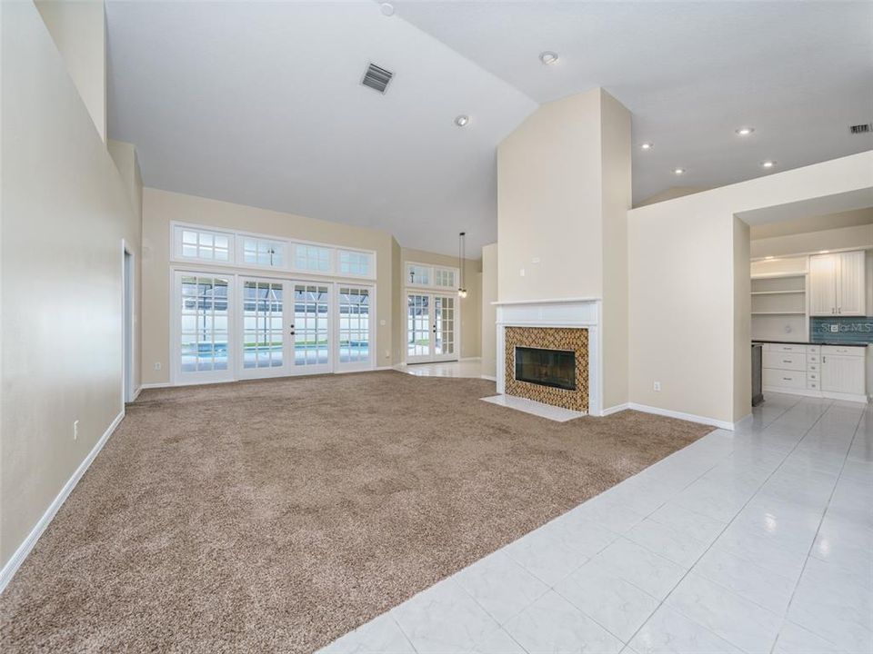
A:
POLYGON ((809 313, 865 315, 863 251, 809 257, 809 313))

